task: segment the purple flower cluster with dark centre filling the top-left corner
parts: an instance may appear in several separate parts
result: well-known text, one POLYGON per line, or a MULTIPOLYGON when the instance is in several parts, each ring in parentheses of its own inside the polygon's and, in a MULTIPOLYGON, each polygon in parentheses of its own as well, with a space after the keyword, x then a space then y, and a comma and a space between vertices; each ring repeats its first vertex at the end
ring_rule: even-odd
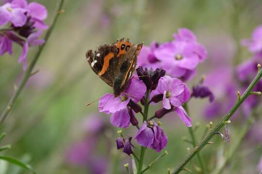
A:
POLYGON ((22 49, 18 62, 23 62, 23 70, 27 68, 27 53, 30 46, 43 44, 39 39, 48 26, 43 22, 47 18, 45 6, 28 3, 27 0, 12 0, 0 6, 0 55, 12 54, 12 44, 17 43, 22 49))

